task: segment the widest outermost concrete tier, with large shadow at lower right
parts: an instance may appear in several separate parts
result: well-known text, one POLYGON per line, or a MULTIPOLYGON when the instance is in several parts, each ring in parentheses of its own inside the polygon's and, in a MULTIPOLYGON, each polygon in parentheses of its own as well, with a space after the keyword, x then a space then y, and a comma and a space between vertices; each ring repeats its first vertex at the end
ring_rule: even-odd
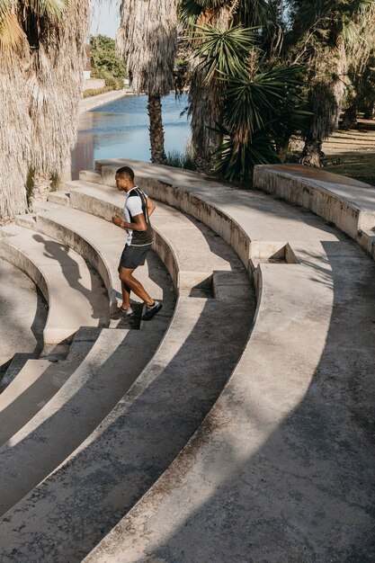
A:
MULTIPOLYGON (((197 175, 134 167, 149 185, 169 176, 178 187, 154 182, 154 195, 176 207, 201 198, 197 175)), ((300 264, 259 266, 262 298, 236 373, 85 561, 373 561, 375 265, 306 211, 212 188, 210 221, 230 211, 252 241, 290 242, 300 264)))

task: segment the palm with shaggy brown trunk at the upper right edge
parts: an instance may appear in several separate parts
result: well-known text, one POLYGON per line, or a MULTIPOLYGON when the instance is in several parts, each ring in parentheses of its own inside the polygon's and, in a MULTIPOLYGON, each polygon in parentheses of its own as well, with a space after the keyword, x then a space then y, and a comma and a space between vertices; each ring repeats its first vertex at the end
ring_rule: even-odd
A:
POLYGON ((363 32, 373 29, 374 0, 291 0, 290 51, 308 68, 308 101, 312 118, 301 162, 322 165, 322 143, 338 127, 344 94, 363 32))

